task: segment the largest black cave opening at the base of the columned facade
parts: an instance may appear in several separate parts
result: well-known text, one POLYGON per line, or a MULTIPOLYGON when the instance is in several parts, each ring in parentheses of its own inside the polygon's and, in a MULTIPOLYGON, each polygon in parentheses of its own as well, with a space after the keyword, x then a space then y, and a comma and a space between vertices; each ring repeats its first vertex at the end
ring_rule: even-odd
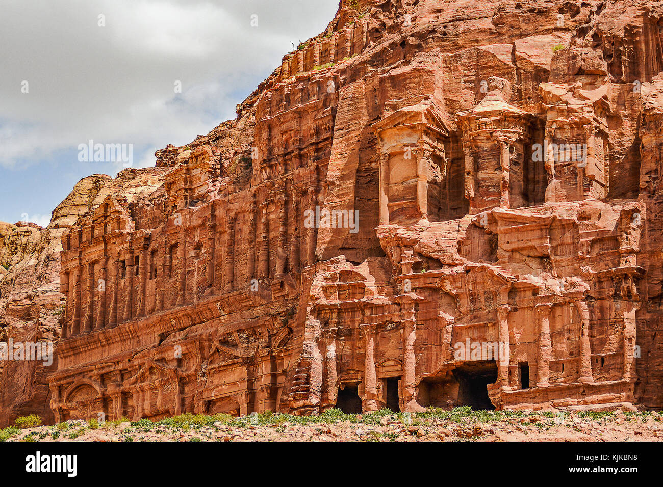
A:
POLYGON ((475 410, 495 409, 488 397, 487 386, 497 381, 497 363, 486 360, 466 364, 455 368, 453 376, 458 381, 459 406, 470 406, 475 410))

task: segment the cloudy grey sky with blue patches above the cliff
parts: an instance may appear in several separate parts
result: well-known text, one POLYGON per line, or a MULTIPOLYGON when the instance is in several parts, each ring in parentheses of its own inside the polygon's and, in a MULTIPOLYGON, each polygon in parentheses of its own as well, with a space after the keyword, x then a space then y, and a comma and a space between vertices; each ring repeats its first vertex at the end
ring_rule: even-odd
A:
POLYGON ((158 148, 235 118, 235 105, 337 7, 0 0, 0 221, 46 225, 78 180, 115 176, 120 161, 79 160, 90 140, 133 144, 133 167, 153 166, 158 148))

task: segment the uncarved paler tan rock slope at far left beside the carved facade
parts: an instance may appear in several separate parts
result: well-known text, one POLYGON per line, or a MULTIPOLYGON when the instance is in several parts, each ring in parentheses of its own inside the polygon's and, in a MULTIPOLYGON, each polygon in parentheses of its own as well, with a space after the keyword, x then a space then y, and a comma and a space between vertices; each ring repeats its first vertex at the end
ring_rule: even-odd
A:
MULTIPOLYGON (((56 349, 65 307, 60 293, 62 235, 107 195, 141 194, 156 179, 134 170, 123 171, 115 180, 90 176, 58 205, 45 229, 34 223, 0 222, 0 342, 52 343, 56 349)), ((35 360, 0 361, 0 424, 29 413, 53 421, 47 377, 57 369, 55 353, 52 359, 50 365, 35 360)))

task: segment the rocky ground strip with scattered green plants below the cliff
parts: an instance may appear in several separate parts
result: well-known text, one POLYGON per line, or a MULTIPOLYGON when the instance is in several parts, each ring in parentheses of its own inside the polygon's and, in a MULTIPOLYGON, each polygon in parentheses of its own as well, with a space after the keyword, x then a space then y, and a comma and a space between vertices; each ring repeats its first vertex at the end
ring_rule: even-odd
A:
POLYGON ((663 414, 646 411, 452 411, 241 418, 184 415, 160 421, 66 421, 0 431, 0 441, 659 441, 663 414))

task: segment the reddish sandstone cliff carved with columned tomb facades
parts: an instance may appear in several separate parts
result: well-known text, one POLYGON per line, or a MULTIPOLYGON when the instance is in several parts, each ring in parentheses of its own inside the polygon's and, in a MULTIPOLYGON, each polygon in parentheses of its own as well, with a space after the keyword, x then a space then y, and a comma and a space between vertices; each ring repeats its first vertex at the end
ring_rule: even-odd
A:
POLYGON ((12 227, 56 260, 80 215, 55 420, 662 407, 662 15, 341 2, 235 121, 12 227))

